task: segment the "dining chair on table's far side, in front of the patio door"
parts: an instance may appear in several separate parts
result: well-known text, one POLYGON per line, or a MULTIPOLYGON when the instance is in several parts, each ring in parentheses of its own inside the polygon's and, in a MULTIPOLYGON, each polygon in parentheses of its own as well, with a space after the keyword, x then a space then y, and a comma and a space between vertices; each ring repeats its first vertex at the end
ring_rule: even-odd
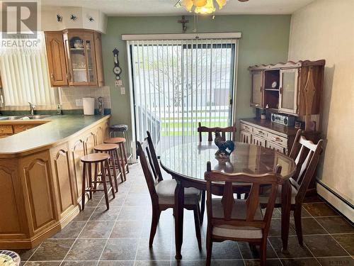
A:
MULTIPOLYGON (((230 133, 230 140, 235 139, 235 133, 236 133, 236 127, 235 126, 228 126, 227 128, 208 128, 207 126, 202 126, 202 123, 198 123, 198 129, 199 133, 199 142, 202 142, 202 133, 207 133, 207 141, 212 141, 212 133, 215 132, 221 132, 222 135, 222 140, 226 141, 226 133, 230 133)), ((239 198, 241 198, 241 195, 237 194, 239 198)), ((200 223, 202 223, 203 218, 204 218, 204 211, 205 211, 205 191, 202 191, 201 194, 201 199, 200 199, 200 223)))

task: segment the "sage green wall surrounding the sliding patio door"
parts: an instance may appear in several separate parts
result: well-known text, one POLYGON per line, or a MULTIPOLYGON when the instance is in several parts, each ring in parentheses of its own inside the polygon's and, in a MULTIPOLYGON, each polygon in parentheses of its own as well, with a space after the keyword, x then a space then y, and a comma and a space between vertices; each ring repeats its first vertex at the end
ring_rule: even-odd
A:
MULTIPOLYGON (((188 17, 188 33, 193 29, 193 17, 188 17)), ((105 84, 110 86, 112 102, 112 123, 127 123, 131 125, 130 88, 127 70, 127 48, 122 41, 122 34, 144 33, 181 33, 182 27, 177 23, 179 16, 156 17, 108 17, 107 32, 103 35, 103 66, 105 84), (120 88, 115 87, 113 74, 113 49, 120 51, 119 60, 122 67, 122 84, 126 94, 120 94, 120 88)), ((251 79, 247 67, 262 63, 285 62, 290 33, 290 15, 260 16, 235 15, 216 16, 212 21, 210 16, 200 17, 199 33, 241 32, 239 40, 239 65, 236 88, 236 119, 251 118, 255 110, 249 106, 251 79)))

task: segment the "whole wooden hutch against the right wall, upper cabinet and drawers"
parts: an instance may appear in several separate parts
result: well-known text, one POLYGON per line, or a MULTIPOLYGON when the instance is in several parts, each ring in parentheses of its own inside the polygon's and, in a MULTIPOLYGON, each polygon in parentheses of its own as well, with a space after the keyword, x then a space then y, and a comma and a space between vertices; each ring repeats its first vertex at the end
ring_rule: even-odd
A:
MULTIPOLYGON (((319 120, 325 60, 255 65, 251 72, 251 106, 265 109, 266 119, 241 119, 241 142, 290 152, 297 128, 270 121, 270 113, 295 116, 304 122, 304 134, 310 140, 319 139, 319 120), (317 116, 318 118, 318 116, 317 116)), ((260 113, 258 110, 257 113, 260 113)))

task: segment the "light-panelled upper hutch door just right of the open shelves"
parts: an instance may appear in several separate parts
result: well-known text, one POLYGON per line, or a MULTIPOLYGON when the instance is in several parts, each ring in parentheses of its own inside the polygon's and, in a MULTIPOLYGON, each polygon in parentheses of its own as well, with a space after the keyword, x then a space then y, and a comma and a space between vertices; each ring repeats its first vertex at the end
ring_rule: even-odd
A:
POLYGON ((280 70, 279 111, 283 113, 297 113, 297 84, 299 70, 280 70))

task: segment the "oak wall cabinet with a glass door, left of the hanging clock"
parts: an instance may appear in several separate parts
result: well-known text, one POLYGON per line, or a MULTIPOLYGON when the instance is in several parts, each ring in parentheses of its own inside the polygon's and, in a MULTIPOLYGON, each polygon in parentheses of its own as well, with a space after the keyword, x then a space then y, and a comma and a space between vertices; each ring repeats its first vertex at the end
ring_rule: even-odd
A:
POLYGON ((104 85, 101 33, 69 29, 45 32, 52 87, 104 85))

